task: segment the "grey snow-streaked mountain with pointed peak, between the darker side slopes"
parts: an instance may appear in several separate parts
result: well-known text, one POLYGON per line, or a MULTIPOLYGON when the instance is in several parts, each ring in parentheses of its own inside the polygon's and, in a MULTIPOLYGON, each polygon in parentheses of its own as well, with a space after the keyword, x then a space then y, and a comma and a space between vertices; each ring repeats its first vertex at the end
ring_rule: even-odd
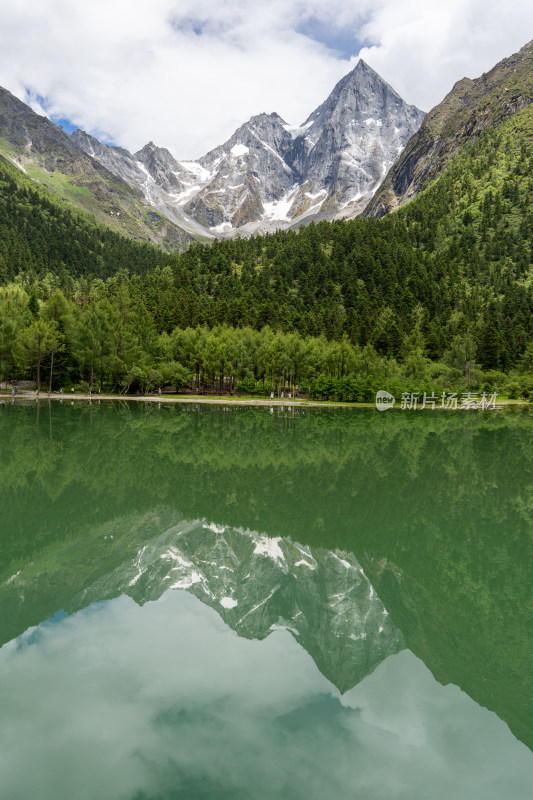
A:
POLYGON ((72 139, 172 222, 231 236, 356 216, 423 118, 359 61, 303 125, 259 114, 197 161, 152 142, 131 155, 83 131, 72 139))

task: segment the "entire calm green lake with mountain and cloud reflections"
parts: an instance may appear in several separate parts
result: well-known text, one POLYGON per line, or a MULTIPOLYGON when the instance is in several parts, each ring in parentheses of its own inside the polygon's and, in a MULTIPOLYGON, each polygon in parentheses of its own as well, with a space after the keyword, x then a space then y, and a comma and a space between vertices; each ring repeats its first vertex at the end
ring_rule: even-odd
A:
POLYGON ((1 800, 529 800, 533 411, 0 404, 1 800))

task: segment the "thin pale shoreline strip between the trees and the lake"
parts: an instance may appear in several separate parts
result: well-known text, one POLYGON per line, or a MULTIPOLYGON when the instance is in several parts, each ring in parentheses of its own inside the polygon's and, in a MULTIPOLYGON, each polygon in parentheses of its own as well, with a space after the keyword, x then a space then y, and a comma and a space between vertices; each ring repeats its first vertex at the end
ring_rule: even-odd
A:
MULTIPOLYGON (((0 400, 3 399, 13 401, 13 397, 10 392, 0 392, 0 400)), ((116 395, 116 394, 88 394, 82 392, 72 392, 70 394, 63 393, 60 394, 59 392, 52 392, 48 394, 48 392, 41 392, 39 395, 35 391, 19 391, 15 398, 16 400, 34 400, 34 401, 44 401, 44 400, 59 400, 60 402, 66 401, 84 401, 84 402, 100 402, 102 400, 105 401, 119 401, 119 402, 134 402, 134 403, 195 403, 204 404, 204 405, 236 405, 236 406, 270 406, 272 408, 352 408, 352 409, 361 409, 361 408, 374 408, 376 409, 376 405, 374 402, 370 403, 354 403, 354 402, 347 402, 341 400, 300 400, 291 398, 288 400, 287 398, 274 398, 271 400, 270 398, 258 398, 258 397, 214 397, 214 396, 205 396, 205 395, 116 395)), ((529 402, 527 400, 510 400, 510 399, 502 399, 498 400, 498 406, 489 409, 481 409, 481 408, 463 408, 462 406, 458 406, 457 408, 416 408, 416 409, 400 409, 398 406, 396 410, 406 410, 406 411, 495 411, 503 406, 529 406, 529 402)), ((377 409, 376 409, 377 410, 377 409)), ((383 412, 380 412, 383 413, 383 412)))

